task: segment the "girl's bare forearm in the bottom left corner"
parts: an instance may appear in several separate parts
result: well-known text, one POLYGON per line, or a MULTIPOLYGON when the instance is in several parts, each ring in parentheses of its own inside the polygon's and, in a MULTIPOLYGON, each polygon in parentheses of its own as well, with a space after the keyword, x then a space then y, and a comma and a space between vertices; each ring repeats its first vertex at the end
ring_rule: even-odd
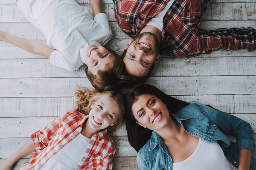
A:
POLYGON ((35 146, 32 140, 29 140, 29 142, 26 142, 26 144, 20 147, 20 149, 17 150, 17 152, 15 152, 12 156, 0 163, 0 170, 11 170, 12 165, 15 164, 15 162, 33 151, 35 151, 35 146))

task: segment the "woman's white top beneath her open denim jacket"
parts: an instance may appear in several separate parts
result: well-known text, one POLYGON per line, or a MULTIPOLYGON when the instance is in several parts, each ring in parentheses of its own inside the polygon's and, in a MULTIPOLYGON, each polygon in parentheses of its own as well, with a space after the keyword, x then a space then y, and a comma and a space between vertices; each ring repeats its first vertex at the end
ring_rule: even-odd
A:
POLYGON ((237 170, 227 160, 217 142, 207 142, 199 138, 198 147, 184 161, 173 163, 173 170, 237 170))

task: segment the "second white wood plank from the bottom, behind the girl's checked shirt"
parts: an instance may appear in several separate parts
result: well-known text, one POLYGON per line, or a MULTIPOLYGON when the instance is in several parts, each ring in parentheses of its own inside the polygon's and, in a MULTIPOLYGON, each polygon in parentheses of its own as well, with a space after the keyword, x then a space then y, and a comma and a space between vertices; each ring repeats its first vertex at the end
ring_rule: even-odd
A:
MULTIPOLYGON (((115 157, 137 156, 137 152, 129 144, 127 136, 113 136, 112 138, 116 144, 115 157)), ((28 141, 29 138, 0 139, 0 159, 7 159, 28 141)), ((30 154, 25 156, 24 158, 29 157, 30 154)))

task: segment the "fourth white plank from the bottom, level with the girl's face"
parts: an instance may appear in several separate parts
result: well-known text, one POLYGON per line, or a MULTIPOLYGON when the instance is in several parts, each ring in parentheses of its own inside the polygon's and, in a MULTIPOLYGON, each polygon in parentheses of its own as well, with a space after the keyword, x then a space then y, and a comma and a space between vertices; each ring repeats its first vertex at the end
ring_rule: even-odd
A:
MULTIPOLYGON (((256 95, 173 96, 189 103, 202 103, 227 113, 256 113, 256 95)), ((0 98, 0 117, 60 116, 73 109, 73 97, 0 98)))

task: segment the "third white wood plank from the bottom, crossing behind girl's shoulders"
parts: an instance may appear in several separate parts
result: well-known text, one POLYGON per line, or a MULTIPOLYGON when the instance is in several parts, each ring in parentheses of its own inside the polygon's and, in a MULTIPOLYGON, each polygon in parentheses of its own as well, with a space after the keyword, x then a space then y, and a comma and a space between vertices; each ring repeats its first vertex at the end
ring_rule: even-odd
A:
MULTIPOLYGON (((256 133, 256 114, 233 114, 250 123, 256 133)), ((26 118, 1 118, 0 138, 27 138, 37 130, 43 128, 55 117, 26 117, 26 118)), ((113 136, 126 136, 125 125, 116 130, 113 136)))

